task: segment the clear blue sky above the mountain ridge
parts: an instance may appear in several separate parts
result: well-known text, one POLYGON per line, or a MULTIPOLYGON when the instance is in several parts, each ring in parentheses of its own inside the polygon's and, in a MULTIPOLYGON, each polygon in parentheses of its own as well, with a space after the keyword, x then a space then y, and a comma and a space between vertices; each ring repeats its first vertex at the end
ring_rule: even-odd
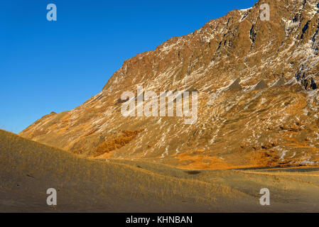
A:
POLYGON ((102 90, 124 60, 256 0, 0 3, 0 128, 18 133, 102 90), (46 6, 58 9, 47 21, 46 6))

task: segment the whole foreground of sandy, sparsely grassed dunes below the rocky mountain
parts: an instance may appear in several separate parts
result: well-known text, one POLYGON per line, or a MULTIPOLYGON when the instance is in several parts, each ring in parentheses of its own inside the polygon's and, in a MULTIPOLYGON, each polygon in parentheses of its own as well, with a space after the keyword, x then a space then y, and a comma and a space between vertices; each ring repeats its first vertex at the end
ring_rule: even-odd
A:
POLYGON ((318 172, 188 171, 151 162, 87 160, 0 131, 0 211, 319 211, 318 172), (305 176, 306 175, 306 176, 305 176), (58 206, 46 204, 48 188, 58 206), (271 189, 271 206, 259 190, 271 189))

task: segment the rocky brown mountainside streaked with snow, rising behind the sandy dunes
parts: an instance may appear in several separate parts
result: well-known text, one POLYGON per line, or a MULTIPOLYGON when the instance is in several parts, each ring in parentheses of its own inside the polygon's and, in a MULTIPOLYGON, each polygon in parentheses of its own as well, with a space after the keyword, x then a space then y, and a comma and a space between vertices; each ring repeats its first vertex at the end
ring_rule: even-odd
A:
POLYGON ((259 1, 126 60, 102 92, 21 132, 96 158, 185 168, 319 164, 319 13, 310 0, 259 1), (270 21, 261 21, 261 4, 270 21), (198 91, 198 121, 124 117, 121 94, 198 91))

